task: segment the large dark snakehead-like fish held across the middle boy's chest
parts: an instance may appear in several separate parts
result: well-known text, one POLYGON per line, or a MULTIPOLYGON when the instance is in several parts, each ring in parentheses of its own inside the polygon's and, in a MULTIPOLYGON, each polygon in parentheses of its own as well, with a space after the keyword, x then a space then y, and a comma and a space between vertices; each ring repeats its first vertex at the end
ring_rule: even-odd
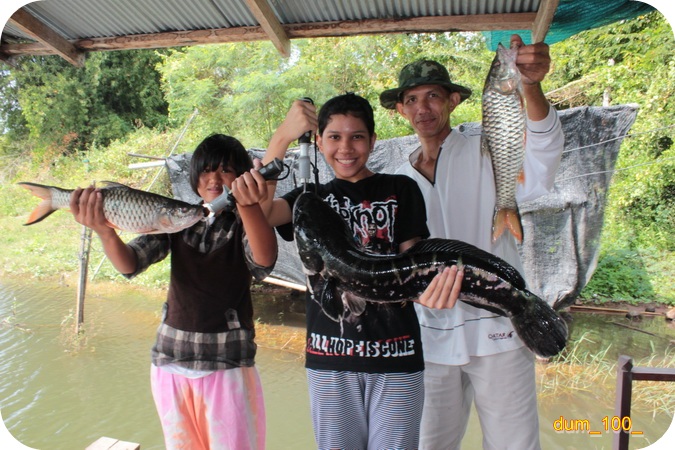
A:
POLYGON ((426 239, 397 255, 360 250, 340 215, 314 193, 301 194, 293 229, 314 300, 333 320, 346 310, 361 314, 366 302, 417 299, 445 267, 462 266, 459 300, 511 319, 518 336, 537 355, 558 354, 567 325, 548 303, 525 289, 506 261, 473 245, 426 239))

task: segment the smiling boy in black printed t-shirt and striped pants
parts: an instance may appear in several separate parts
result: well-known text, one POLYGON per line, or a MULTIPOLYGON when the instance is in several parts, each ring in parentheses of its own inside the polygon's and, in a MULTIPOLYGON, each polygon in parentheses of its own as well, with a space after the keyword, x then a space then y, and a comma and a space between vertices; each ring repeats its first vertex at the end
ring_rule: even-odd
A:
MULTIPOLYGON (((263 163, 283 158, 307 130, 335 178, 316 188, 345 219, 358 245, 379 253, 405 251, 429 236, 424 199, 407 176, 375 174, 366 163, 375 140, 373 110, 354 94, 332 98, 321 108, 296 101, 272 137, 263 163)), ((308 186, 315 190, 315 186, 308 186)), ((261 205, 272 226, 291 222, 303 187, 261 205)), ((421 303, 452 307, 461 272, 446 269, 421 303), (447 282, 447 284, 446 284, 447 282), (447 285, 457 285, 448 292, 447 285), (438 287, 437 287, 438 286, 438 287)), ((416 448, 424 398, 424 361, 413 304, 368 302, 363 313, 341 323, 307 295, 306 368, 318 448, 416 448)))

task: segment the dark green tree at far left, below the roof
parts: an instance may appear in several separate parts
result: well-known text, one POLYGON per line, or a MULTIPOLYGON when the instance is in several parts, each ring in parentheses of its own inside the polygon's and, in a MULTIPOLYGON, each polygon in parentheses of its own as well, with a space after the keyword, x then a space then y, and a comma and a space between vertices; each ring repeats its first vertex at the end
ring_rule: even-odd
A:
POLYGON ((69 152, 161 126, 167 103, 159 61, 153 51, 91 53, 84 68, 51 56, 24 57, 3 82, 5 127, 18 136, 27 130, 38 149, 69 152))

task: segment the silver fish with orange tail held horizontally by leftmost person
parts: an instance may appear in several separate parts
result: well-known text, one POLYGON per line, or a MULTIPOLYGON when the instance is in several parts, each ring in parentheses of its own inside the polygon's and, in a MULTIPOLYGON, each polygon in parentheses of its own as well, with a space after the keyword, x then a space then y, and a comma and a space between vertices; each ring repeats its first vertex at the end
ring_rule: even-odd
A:
MULTIPOLYGON (((201 205, 192 205, 119 183, 103 183, 103 214, 108 224, 118 230, 141 234, 175 233, 194 225, 205 215, 201 205)), ((70 208, 73 189, 27 182, 18 184, 43 199, 24 225, 40 222, 57 209, 70 208)))

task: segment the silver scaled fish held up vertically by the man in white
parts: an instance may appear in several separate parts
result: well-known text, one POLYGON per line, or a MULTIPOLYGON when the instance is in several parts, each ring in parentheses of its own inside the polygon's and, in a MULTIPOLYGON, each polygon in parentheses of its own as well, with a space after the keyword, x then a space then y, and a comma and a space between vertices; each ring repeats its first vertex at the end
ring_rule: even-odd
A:
POLYGON ((525 157, 525 100, 520 71, 516 67, 518 48, 502 44, 490 66, 483 88, 482 149, 492 158, 497 201, 492 239, 505 229, 522 242, 523 228, 516 204, 516 183, 523 182, 525 157))

